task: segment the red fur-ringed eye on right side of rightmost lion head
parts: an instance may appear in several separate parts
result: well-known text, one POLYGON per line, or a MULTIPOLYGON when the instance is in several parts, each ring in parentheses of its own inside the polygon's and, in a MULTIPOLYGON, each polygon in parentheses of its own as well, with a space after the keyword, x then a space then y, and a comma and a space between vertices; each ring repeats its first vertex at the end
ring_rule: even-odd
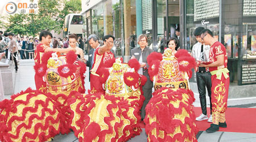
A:
POLYGON ((177 59, 179 62, 179 68, 181 72, 187 72, 196 66, 196 60, 192 56, 183 56, 177 59), (188 62, 187 64, 182 64, 182 62, 188 62))

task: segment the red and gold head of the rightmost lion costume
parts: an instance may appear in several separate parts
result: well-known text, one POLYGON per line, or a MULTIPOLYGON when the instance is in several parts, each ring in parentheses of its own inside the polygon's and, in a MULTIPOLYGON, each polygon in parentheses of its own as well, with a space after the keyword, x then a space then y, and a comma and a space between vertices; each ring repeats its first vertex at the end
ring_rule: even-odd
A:
POLYGON ((167 48, 163 55, 151 53, 147 57, 150 67, 148 74, 155 83, 155 90, 161 87, 172 89, 188 89, 188 79, 192 76, 191 68, 195 66, 195 59, 189 53, 181 49, 175 55, 167 48))

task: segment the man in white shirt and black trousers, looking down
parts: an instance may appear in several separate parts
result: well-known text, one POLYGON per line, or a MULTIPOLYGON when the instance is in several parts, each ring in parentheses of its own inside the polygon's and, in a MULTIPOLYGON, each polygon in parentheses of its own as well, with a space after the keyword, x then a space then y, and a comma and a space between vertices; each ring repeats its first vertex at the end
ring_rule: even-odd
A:
MULTIPOLYGON (((197 43, 193 45, 191 56, 193 56, 196 61, 209 61, 209 51, 210 46, 204 45, 203 40, 201 39, 200 35, 201 32, 204 30, 204 27, 197 27, 194 35, 196 36, 197 43)), ((208 96, 211 95, 211 87, 212 81, 210 79, 211 75, 209 72, 209 68, 199 67, 196 70, 196 82, 197 82, 197 89, 199 91, 199 98, 201 103, 202 114, 196 118, 197 121, 206 120, 208 119, 207 116, 207 101, 206 101, 206 90, 205 86, 207 87, 208 96)), ((208 122, 212 122, 212 102, 210 98, 210 116, 208 122)))

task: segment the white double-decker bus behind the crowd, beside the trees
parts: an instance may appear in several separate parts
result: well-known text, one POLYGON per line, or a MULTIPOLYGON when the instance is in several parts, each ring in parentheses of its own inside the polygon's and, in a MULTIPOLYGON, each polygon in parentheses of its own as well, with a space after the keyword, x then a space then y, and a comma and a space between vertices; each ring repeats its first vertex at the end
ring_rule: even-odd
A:
POLYGON ((82 32, 83 20, 81 14, 68 14, 64 21, 64 37, 70 34, 76 34, 77 37, 84 37, 82 32))

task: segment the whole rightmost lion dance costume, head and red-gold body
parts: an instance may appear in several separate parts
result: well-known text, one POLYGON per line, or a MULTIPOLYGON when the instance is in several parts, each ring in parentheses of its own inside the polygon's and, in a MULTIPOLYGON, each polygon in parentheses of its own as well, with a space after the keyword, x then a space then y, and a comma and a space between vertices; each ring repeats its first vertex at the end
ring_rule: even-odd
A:
POLYGON ((183 49, 174 56, 167 48, 163 56, 151 53, 147 62, 148 73, 155 84, 144 119, 148 141, 197 141, 192 111, 195 98, 188 85, 195 59, 183 49))

